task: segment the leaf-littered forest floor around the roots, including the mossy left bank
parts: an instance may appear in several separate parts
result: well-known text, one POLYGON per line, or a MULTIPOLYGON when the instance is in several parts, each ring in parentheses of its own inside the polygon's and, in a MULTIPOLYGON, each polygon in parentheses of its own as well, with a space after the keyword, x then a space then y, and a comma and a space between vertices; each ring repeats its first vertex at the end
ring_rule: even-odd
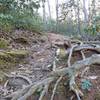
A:
MULTIPOLYGON (((70 40, 69 37, 54 33, 42 34, 23 30, 5 34, 1 32, 0 41, 1 39, 7 46, 4 44, 4 47, 0 49, 0 100, 11 100, 3 97, 31 83, 45 79, 52 71, 57 48, 63 48, 65 42, 69 45, 70 40)), ((96 53, 86 51, 85 56, 89 57, 96 53)), ((79 52, 73 53, 71 64, 81 59, 79 52)), ((66 66, 66 57, 57 62, 58 68, 66 66)), ((91 87, 89 90, 82 89, 81 78, 77 77, 76 82, 84 93, 82 100, 100 100, 100 66, 92 65, 85 72, 84 77, 90 81, 91 87)), ((68 86, 62 83, 57 89, 54 100, 77 100, 68 86)), ((51 89, 43 100, 50 100, 51 89)), ((37 93, 34 99, 31 96, 28 100, 38 100, 38 95, 37 93)))

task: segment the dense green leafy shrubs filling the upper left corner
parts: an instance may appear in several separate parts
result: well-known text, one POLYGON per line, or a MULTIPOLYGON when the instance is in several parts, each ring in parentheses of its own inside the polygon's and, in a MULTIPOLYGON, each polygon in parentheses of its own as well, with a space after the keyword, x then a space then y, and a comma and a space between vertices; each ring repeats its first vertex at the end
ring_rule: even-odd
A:
POLYGON ((40 31, 42 19, 36 12, 39 7, 38 0, 0 0, 0 28, 7 32, 13 29, 40 31))

